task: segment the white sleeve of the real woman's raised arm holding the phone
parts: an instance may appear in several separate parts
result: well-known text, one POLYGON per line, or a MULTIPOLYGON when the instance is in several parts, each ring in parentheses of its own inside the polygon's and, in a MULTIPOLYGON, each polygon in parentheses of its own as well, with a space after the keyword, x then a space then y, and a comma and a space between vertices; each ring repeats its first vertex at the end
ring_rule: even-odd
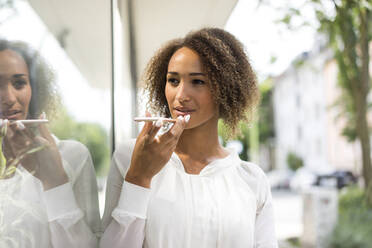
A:
POLYGON ((131 146, 122 146, 114 153, 107 178, 105 229, 100 247, 141 248, 150 189, 124 181, 130 165, 131 146))

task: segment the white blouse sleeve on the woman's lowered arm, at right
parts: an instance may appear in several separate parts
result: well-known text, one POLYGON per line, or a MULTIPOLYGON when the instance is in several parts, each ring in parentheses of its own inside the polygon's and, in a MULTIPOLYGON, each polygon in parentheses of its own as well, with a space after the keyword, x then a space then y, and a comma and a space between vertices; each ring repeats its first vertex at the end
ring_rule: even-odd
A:
POLYGON ((271 197, 270 184, 262 172, 258 188, 260 191, 256 222, 255 222, 255 248, 277 248, 278 243, 274 226, 274 209, 271 197))

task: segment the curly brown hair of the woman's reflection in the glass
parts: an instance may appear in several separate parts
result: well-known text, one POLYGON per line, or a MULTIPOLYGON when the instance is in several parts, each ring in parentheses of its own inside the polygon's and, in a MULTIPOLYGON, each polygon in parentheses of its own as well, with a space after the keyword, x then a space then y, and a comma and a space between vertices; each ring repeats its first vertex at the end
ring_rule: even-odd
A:
POLYGON ((39 118, 42 112, 48 118, 55 115, 60 103, 54 73, 40 54, 22 41, 9 41, 0 38, 0 51, 12 50, 22 56, 26 62, 32 90, 28 119, 39 118))

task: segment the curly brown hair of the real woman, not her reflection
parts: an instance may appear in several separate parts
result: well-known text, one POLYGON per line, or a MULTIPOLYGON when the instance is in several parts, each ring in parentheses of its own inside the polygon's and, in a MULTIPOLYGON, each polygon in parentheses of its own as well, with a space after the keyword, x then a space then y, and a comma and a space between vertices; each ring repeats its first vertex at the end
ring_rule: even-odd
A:
POLYGON ((252 116, 260 94, 243 44, 219 28, 203 28, 183 39, 171 40, 152 57, 143 76, 149 93, 148 108, 170 116, 165 97, 166 75, 172 55, 181 47, 200 56, 220 118, 234 133, 239 121, 248 121, 252 116))

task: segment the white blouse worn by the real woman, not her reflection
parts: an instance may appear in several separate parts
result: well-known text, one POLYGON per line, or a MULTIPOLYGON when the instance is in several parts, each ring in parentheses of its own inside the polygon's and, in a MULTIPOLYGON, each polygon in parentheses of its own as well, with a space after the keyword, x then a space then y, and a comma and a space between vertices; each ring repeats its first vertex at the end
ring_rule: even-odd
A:
POLYGON ((191 175, 173 153, 147 189, 124 181, 134 144, 113 156, 102 248, 277 247, 270 187, 258 166, 230 151, 191 175))

